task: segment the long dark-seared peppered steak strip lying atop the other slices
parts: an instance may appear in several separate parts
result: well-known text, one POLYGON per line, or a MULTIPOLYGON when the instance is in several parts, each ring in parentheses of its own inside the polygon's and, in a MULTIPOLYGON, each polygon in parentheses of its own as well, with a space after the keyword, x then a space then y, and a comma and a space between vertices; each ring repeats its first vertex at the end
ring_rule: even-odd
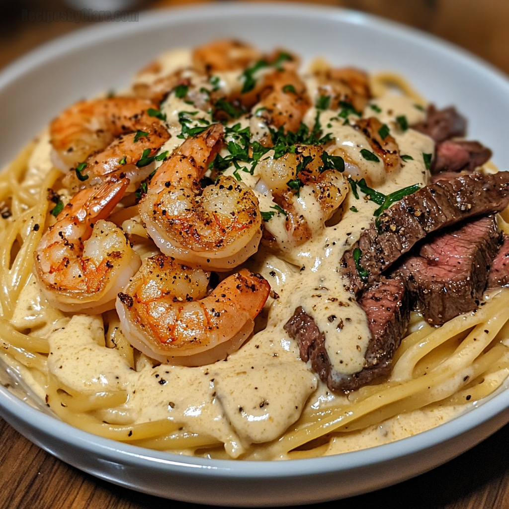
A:
POLYGON ((342 260, 350 289, 357 294, 426 235, 464 219, 500 212, 509 204, 509 172, 473 173, 440 180, 394 204, 380 216, 379 228, 365 230, 342 260), (359 254, 358 274, 354 252, 359 254))

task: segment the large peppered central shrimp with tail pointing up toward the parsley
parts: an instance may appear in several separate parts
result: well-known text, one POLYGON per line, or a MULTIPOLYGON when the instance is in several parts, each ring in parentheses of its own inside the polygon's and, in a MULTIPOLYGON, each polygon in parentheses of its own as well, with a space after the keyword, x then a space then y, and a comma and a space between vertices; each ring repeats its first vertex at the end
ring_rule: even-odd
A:
POLYGON ((199 180, 223 145, 213 124, 189 137, 159 168, 139 211, 159 249, 193 266, 236 267, 256 252, 261 214, 254 193, 233 177, 202 189, 199 180))

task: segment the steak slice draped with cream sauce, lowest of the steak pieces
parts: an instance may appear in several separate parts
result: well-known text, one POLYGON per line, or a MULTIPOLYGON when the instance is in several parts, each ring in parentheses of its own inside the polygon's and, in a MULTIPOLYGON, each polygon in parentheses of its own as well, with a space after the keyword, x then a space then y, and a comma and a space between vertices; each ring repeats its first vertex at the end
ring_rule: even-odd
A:
MULTIPOLYGON (((402 278, 381 280, 366 290, 359 304, 371 331, 364 368, 344 375, 334 370, 325 348, 325 334, 302 307, 295 310, 285 330, 299 342, 300 357, 311 361, 312 369, 330 390, 350 392, 390 372, 392 357, 400 346, 410 318, 409 292, 402 278)), ((337 332, 341 334, 341 331, 337 332)))

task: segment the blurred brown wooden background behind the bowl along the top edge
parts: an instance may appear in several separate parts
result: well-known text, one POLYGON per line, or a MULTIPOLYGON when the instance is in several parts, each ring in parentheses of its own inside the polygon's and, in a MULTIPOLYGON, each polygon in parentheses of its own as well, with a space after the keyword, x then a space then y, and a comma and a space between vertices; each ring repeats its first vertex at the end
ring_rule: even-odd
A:
MULTIPOLYGON (((208 3, 212 1, 208 0, 208 3)), ((102 3, 101 0, 1 0, 0 68, 42 42, 91 24, 22 21, 22 9, 60 11, 67 8, 98 8, 100 5, 101 9, 115 10, 108 4, 120 3, 121 0, 102 3)), ((194 3, 197 0, 131 0, 128 9, 194 3)), ((509 74, 509 0, 315 0, 308 3, 357 9, 414 26, 463 46, 509 74)), ((143 13, 140 15, 143 16, 143 13)))

